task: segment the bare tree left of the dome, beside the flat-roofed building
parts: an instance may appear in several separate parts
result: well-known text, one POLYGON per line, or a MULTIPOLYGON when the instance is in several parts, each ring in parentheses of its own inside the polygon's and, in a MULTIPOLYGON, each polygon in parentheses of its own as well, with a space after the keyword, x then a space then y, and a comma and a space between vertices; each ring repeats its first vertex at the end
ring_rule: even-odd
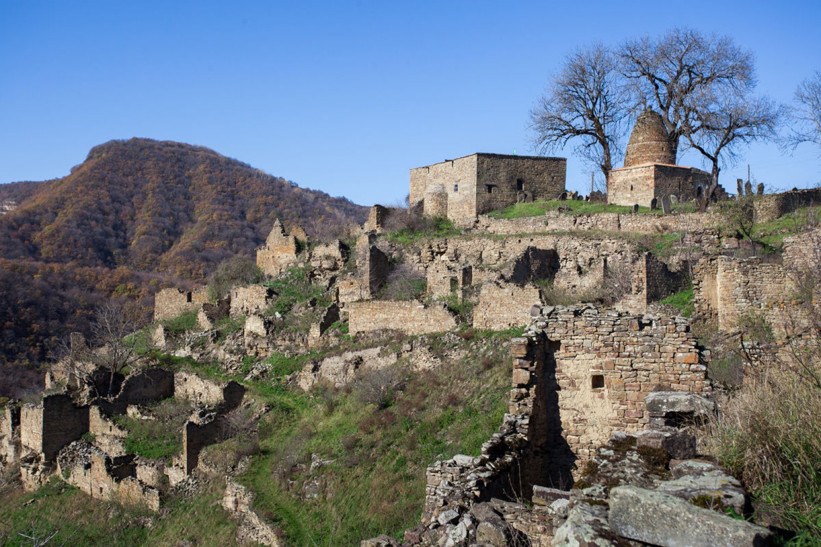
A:
POLYGON ((607 179, 624 136, 626 105, 626 90, 610 49, 601 43, 576 49, 530 111, 534 148, 548 153, 578 140, 576 153, 598 166, 607 179))

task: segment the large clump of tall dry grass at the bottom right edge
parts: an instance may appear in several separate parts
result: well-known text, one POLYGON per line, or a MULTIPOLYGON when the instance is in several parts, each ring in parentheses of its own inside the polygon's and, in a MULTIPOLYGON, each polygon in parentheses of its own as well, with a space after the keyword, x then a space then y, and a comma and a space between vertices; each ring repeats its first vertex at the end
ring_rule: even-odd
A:
POLYGON ((759 520, 821 540, 821 390, 792 372, 748 376, 700 435, 753 493, 759 520))

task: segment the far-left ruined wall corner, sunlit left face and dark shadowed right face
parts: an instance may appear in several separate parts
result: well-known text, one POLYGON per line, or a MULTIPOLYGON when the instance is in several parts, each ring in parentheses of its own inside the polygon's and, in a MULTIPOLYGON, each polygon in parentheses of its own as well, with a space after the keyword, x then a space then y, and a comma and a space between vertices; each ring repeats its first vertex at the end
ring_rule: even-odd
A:
POLYGON ((67 394, 46 395, 39 405, 20 413, 20 439, 26 449, 52 462, 62 447, 89 431, 89 408, 78 407, 67 394))

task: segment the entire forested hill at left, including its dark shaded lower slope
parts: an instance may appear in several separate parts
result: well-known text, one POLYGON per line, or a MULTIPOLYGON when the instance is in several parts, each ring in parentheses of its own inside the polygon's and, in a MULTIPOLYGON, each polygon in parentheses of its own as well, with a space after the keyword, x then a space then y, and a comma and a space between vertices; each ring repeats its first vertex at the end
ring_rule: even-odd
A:
POLYGON ((42 362, 112 296, 149 308, 163 286, 254 258, 277 217, 327 235, 367 215, 208 148, 151 139, 94 147, 61 179, 0 185, 2 203, 0 365, 42 362))

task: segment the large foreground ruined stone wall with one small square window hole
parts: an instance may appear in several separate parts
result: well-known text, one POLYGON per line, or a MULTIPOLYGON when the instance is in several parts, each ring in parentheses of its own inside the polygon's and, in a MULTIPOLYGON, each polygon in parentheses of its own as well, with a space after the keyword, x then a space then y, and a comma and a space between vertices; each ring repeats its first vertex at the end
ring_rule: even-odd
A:
MULTIPOLYGON (((534 379, 515 362, 511 396, 525 399, 532 381, 545 385, 553 412, 561 416, 561 440, 548 445, 565 446, 576 458, 589 458, 614 431, 644 428, 644 397, 654 390, 711 391, 683 317, 548 307, 531 330, 531 337, 539 335, 546 339, 545 376, 534 379)), ((515 407, 511 403, 511 412, 515 407)))

